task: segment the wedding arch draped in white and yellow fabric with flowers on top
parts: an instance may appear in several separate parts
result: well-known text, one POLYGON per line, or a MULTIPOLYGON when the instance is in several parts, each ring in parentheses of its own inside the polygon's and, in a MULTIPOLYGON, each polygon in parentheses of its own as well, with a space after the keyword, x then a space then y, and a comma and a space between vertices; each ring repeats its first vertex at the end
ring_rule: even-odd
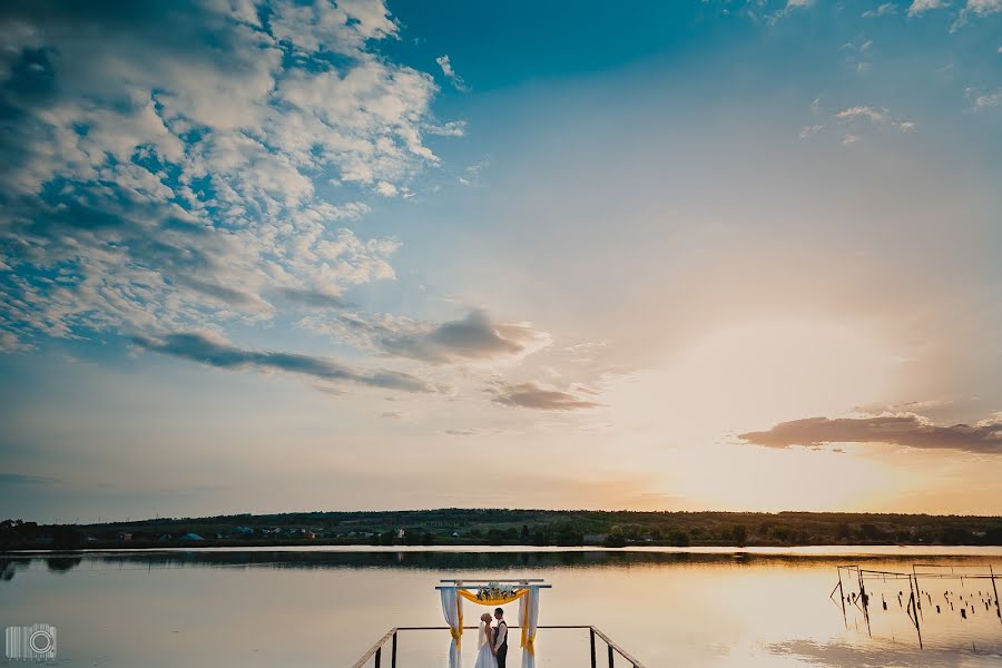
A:
POLYGON ((435 587, 442 597, 442 612, 452 640, 449 646, 449 668, 462 668, 460 655, 463 637, 463 601, 497 608, 519 601, 522 668, 536 668, 536 630, 539 622, 539 591, 551 589, 541 579, 521 580, 441 580, 435 587))

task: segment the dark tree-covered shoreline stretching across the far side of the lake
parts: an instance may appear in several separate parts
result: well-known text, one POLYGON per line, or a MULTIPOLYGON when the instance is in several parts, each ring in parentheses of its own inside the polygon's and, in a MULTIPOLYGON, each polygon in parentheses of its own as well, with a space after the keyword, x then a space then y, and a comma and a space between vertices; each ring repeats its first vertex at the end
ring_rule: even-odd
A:
POLYGON ((323 547, 1002 546, 1002 517, 438 509, 0 522, 0 550, 323 547))

